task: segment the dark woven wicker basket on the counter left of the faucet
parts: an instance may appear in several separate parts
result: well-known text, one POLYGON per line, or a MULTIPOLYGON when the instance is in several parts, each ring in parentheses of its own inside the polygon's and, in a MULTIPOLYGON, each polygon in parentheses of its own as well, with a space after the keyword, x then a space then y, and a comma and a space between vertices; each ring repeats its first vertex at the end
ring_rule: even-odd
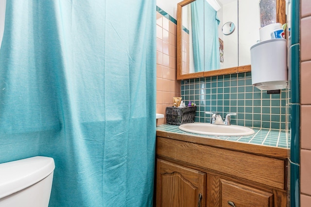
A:
POLYGON ((191 107, 166 107, 166 122, 172 125, 182 125, 194 122, 195 106, 191 107))

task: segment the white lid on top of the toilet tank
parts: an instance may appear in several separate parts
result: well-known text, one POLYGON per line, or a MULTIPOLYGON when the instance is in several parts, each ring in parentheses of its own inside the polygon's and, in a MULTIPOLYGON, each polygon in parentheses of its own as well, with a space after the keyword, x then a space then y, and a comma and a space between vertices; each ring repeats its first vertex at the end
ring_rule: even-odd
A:
POLYGON ((54 159, 41 156, 1 163, 0 199, 39 182, 54 168, 54 159))

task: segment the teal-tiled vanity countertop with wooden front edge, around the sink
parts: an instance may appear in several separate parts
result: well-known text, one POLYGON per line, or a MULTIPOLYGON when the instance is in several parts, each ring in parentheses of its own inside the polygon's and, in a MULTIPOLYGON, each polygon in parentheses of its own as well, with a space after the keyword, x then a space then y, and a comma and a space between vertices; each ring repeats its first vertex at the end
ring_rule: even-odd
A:
POLYGON ((285 130, 252 128, 255 131, 252 135, 212 136, 185 132, 178 127, 178 125, 169 124, 159 125, 156 127, 156 135, 192 143, 248 151, 255 154, 288 157, 290 138, 287 137, 285 130))

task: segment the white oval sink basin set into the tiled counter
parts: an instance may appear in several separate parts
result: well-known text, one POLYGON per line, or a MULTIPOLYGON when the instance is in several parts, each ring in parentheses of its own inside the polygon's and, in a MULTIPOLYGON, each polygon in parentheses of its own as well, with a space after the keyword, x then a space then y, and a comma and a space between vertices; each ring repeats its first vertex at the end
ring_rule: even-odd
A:
POLYGON ((248 127, 237 125, 216 125, 209 123, 189 123, 179 126, 180 130, 196 133, 207 134, 215 136, 244 136, 254 134, 255 131, 248 127))

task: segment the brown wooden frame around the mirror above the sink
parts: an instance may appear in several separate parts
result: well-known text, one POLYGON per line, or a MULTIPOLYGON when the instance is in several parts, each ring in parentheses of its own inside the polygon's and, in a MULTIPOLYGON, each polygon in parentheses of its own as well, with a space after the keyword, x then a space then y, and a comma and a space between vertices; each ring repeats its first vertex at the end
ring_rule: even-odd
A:
MULTIPOLYGON (((234 73, 250 72, 251 65, 242 65, 211 71, 202 71, 197 73, 182 74, 182 7, 195 0, 183 0, 177 3, 177 80, 202 78, 210 76, 227 75, 234 73)), ((276 22, 286 23, 285 1, 276 0, 276 22)), ((238 27, 239 32, 239 27, 238 27)), ((286 32, 285 32, 286 33, 286 32)))

